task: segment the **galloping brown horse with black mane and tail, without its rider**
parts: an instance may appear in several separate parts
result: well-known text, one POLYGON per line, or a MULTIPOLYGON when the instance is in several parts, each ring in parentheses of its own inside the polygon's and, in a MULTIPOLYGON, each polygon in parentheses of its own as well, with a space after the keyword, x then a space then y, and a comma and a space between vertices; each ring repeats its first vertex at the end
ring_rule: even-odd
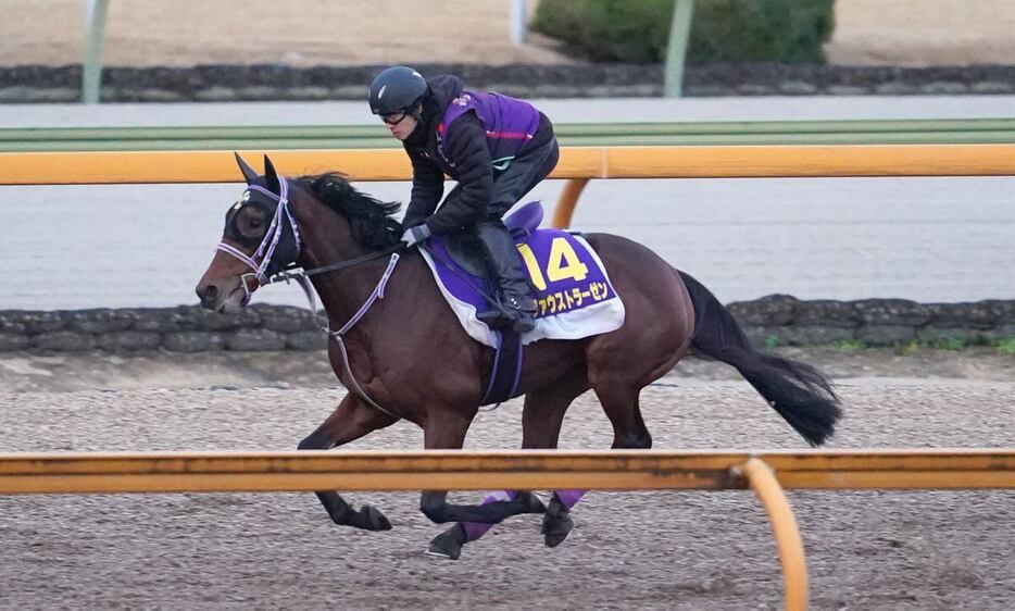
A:
MULTIPOLYGON (((400 224, 393 219, 399 204, 359 191, 339 173, 280 177, 265 155, 265 172, 259 175, 239 154, 236 159, 247 189, 227 211, 222 241, 196 291, 203 308, 236 312, 258 287, 293 277, 287 269, 301 267, 305 275, 298 279, 310 279, 326 312, 331 369, 349 392, 298 448, 331 449, 404 419, 423 429, 426 449, 461 449, 492 374, 494 352, 466 335, 424 258, 399 240, 400 224)), ((556 448, 565 412, 587 390, 610 420, 613 448, 651 448, 641 389, 691 349, 736 367, 812 446, 834 434, 841 408, 822 372, 755 351, 707 288, 649 248, 610 234, 584 237, 623 298, 623 325, 582 339, 541 339, 524 347, 514 391, 525 397, 523 449, 556 448)), ((304 284, 312 298, 310 288, 304 284)), ((316 495, 336 524, 391 528, 368 504, 354 510, 336 491, 316 495)), ((549 506, 528 491, 502 492, 476 506, 450 503, 447 495, 424 491, 421 511, 438 524, 479 526, 543 513, 546 544, 553 546, 569 532, 568 513, 581 492, 554 491, 549 506)), ((435 553, 458 558, 467 539, 438 540, 442 536, 431 551, 436 546, 435 553)))

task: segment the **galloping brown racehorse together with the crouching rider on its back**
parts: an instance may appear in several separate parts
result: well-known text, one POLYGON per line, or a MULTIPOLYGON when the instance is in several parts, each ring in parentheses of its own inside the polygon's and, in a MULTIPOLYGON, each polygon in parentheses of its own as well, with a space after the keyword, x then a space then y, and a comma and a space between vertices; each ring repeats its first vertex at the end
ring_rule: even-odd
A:
MULTIPOLYGON (((638 242, 599 233, 529 235, 526 266, 535 270, 534 285, 543 285, 540 294, 548 283, 538 282, 537 274, 541 267, 549 272, 551 264, 555 272, 567 271, 554 282, 585 283, 534 303, 514 239, 501 220, 556 164, 550 122, 531 105, 497 93, 464 91, 462 80, 453 76, 427 82, 412 68, 398 66, 375 79, 371 108, 412 160, 412 201, 403 223, 392 217, 397 203, 361 194, 340 174, 286 178, 265 157, 264 174, 259 175, 237 155, 247 189, 230 205, 222 240, 196 287, 201 306, 217 312, 238 311, 259 287, 293 277, 302 278, 308 295, 312 285, 321 297, 331 338, 328 359, 350 391, 300 441, 301 450, 342 446, 399 420, 423 428, 428 450, 464 447, 484 404, 484 382, 497 367, 497 353, 493 345, 471 335, 435 282, 430 251, 450 240, 435 240, 419 252, 399 252, 403 242, 415 246, 439 234, 474 235, 483 244, 494 272, 488 275, 503 288, 503 296, 491 300, 501 328, 538 335, 560 321, 540 311, 541 323, 534 329, 537 303, 540 309, 547 303, 551 315, 559 316, 567 313, 571 301, 581 308, 590 297, 599 306, 619 307, 619 296, 625 296, 621 316, 611 319, 607 331, 573 334, 557 327, 557 335, 525 346, 510 390, 512 397, 525 396, 523 448, 556 448, 565 412, 588 390, 596 394, 613 427, 613 448, 651 448, 641 390, 691 348, 736 367, 807 442, 817 446, 832 435, 841 409, 820 371, 755 350, 706 287, 638 242), (437 210, 444 174, 459 186, 437 210), (542 264, 529 265, 537 244, 547 247, 547 257, 542 264), (548 246, 553 244, 565 245, 571 254, 554 255, 548 246), (574 252, 578 247, 589 255, 588 263, 574 252), (342 274, 354 266, 360 273, 342 274), (602 279, 593 279, 593 272, 602 279)), ((548 279, 549 274, 539 278, 548 279)), ((555 490, 543 508, 527 491, 505 490, 480 504, 460 504, 448 500, 447 490, 424 490, 421 511, 438 524, 455 523, 430 543, 428 552, 458 558, 462 546, 490 524, 532 512, 544 512, 546 544, 559 545, 571 531, 568 513, 580 496, 581 490, 555 490)), ((317 497, 336 524, 369 531, 391 527, 376 509, 354 510, 335 490, 318 490, 317 497)))

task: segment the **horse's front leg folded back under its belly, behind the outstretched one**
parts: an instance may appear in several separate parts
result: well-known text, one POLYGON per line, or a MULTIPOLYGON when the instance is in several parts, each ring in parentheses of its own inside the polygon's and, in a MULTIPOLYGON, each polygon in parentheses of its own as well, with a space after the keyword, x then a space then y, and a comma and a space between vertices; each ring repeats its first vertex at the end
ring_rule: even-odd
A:
MULTIPOLYGON (((476 411, 468 413, 437 412, 427 416, 424 427, 424 446, 428 450, 460 450, 465 433, 476 411)), ((447 522, 480 522, 497 524, 506 518, 531 510, 530 497, 506 496, 484 504, 452 504, 447 490, 427 490, 419 500, 419 511, 438 524, 447 522)))

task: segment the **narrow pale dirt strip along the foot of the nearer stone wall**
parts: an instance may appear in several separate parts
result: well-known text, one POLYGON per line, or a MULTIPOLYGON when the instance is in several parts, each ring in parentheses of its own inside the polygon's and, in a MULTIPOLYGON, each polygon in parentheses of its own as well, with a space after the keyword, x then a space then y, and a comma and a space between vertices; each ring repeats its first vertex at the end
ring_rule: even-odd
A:
MULTIPOLYGON (((960 351, 920 349, 785 348, 786 357, 812 363, 839 381, 879 385, 991 384, 1015 379, 1015 356, 993 348, 960 351)), ((662 381, 694 386, 740 381, 723 363, 688 357, 662 381)), ((0 392, 72 392, 146 388, 329 388, 337 385, 322 352, 149 352, 131 357, 103 352, 50 356, 0 354, 0 392)))

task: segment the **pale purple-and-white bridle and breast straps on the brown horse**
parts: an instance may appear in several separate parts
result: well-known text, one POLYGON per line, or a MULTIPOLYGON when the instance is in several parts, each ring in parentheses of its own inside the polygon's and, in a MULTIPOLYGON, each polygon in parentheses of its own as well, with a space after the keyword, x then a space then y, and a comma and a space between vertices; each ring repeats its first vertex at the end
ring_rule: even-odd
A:
POLYGON ((312 270, 300 270, 296 261, 299 259, 300 253, 302 252, 302 240, 300 238, 300 225, 296 221, 296 216, 292 215, 292 211, 289 210, 289 183, 285 177, 278 177, 278 195, 272 192, 270 189, 266 189, 260 185, 248 185, 248 189, 255 190, 270 199, 274 200, 277 205, 275 208, 275 215, 272 217, 272 223, 268 225, 267 232, 264 234, 264 238, 261 240, 261 245, 258 246, 258 249, 253 252, 252 255, 248 255, 238 248, 226 244, 225 241, 218 242, 215 247, 216 250, 221 250, 226 254, 229 254, 236 259, 239 259, 249 266, 252 272, 247 272, 246 274, 240 274, 240 285, 243 287, 243 304, 250 301, 253 291, 250 290, 250 287, 247 284, 248 278, 253 278, 258 284, 258 287, 266 286, 270 284, 275 284, 279 282, 285 282, 288 284, 290 280, 295 280, 300 288, 303 289, 303 295, 306 296, 308 307, 310 308, 311 315, 314 319, 317 317, 317 307, 316 300, 314 299, 314 290, 310 284, 310 276, 315 276, 318 274, 326 274, 329 272, 337 272, 339 270, 344 270, 359 265, 361 263, 366 263, 367 261, 373 261, 375 259, 380 259, 390 254, 388 260, 388 266, 385 270, 384 274, 380 276, 380 280, 374 287, 373 292, 369 297, 366 298, 366 301, 363 302, 363 306, 356 311, 355 314, 349 319, 341 328, 334 331, 331 329, 330 323, 326 324, 322 328, 327 332, 329 337, 335 338, 338 342, 338 347, 341 350, 342 363, 346 366, 346 373, 349 374, 349 379, 352 381, 353 390, 360 396, 361 399, 367 402, 371 407, 388 414, 391 417, 399 417, 388 410, 381 408, 377 404, 376 401, 369 398, 365 390, 360 386, 360 383, 356 382, 355 376, 352 374, 352 367, 349 364, 349 352, 346 349, 346 342, 343 341, 343 336, 349 333, 349 331, 355 326, 358 322, 366 314, 367 310, 374 304, 378 299, 384 299, 384 290, 388 284, 388 279, 391 277, 391 274, 394 272, 394 266, 399 261, 399 251, 405 248, 403 242, 399 242, 394 246, 390 246, 384 250, 368 252, 366 254, 347 259, 346 261, 339 261, 337 263, 331 263, 328 265, 323 265, 321 267, 314 267, 312 270), (289 223, 289 226, 292 228, 292 236, 296 240, 296 255, 293 260, 289 263, 284 263, 285 265, 278 272, 274 274, 268 274, 268 270, 272 269, 272 258, 275 255, 275 251, 278 248, 278 244, 281 240, 283 234, 285 233, 285 224, 289 223), (260 263, 258 259, 260 258, 260 263))

